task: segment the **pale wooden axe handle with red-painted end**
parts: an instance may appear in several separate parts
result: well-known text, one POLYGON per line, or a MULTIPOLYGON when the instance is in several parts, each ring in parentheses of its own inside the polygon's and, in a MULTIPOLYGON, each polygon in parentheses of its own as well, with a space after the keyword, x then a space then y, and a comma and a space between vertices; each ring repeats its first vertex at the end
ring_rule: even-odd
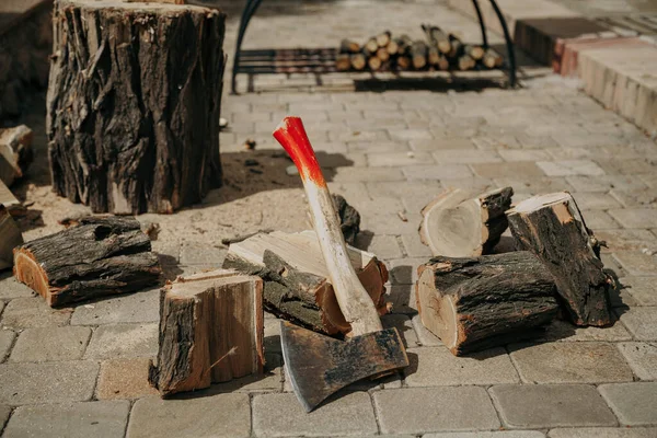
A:
POLYGON ((274 131, 274 138, 290 155, 301 175, 328 276, 339 309, 351 325, 351 334, 359 336, 383 330, 374 303, 351 266, 333 199, 301 119, 286 117, 274 131))

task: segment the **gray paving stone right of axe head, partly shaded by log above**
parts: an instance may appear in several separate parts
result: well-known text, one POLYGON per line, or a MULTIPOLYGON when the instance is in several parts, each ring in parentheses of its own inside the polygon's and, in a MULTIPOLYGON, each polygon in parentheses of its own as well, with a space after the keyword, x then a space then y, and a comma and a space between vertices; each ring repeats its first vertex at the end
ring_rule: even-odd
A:
POLYGON ((408 387, 519 383, 520 378, 504 348, 456 357, 446 347, 410 348, 404 370, 408 387))

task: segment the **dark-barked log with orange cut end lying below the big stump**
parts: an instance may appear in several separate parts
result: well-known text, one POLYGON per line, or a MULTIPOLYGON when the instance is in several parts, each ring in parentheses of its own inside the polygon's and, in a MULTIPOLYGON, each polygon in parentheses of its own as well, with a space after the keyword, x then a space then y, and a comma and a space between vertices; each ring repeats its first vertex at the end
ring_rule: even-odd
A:
POLYGON ((161 273, 135 218, 82 218, 14 249, 14 276, 53 307, 132 292, 157 284, 161 273))

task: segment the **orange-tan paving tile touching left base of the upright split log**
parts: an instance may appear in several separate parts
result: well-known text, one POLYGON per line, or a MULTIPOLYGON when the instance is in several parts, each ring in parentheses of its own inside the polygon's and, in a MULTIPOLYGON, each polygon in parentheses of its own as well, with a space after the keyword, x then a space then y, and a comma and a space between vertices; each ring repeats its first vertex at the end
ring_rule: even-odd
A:
POLYGON ((116 359, 101 364, 96 399, 139 399, 155 395, 148 382, 149 359, 116 359))

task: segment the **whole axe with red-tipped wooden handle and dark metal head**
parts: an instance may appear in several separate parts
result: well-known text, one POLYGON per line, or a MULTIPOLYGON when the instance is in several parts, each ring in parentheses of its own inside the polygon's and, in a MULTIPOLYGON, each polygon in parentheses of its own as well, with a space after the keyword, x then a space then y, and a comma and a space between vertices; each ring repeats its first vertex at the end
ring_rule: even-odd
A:
POLYGON ((383 330, 372 299, 356 276, 324 175, 299 117, 286 117, 274 138, 290 155, 303 182, 315 233, 337 303, 351 325, 348 341, 280 324, 283 357, 307 412, 337 390, 408 366, 396 328, 383 330))

